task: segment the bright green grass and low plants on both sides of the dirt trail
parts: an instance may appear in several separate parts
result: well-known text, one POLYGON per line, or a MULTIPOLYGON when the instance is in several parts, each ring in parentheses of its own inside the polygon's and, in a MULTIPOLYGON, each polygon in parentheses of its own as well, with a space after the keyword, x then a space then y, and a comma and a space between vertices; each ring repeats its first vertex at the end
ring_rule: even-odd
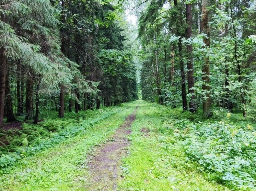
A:
MULTIPOLYGON (((55 137, 40 140, 42 150, 0 169, 0 190, 90 190, 88 154, 107 141, 138 104, 118 191, 255 191, 255 124, 236 113, 202 121, 200 111, 182 113, 146 101, 90 111, 91 118, 63 119, 72 124, 75 120, 77 126, 61 127, 55 137), (56 143, 48 145, 49 140, 56 143)), ((46 124, 49 128, 51 121, 46 124)))

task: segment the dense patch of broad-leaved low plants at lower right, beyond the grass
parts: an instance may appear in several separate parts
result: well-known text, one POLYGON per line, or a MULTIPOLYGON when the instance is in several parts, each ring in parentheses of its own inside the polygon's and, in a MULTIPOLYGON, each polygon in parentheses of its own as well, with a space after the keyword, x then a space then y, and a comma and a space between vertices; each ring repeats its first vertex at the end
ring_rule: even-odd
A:
POLYGON ((230 188, 246 190, 256 185, 256 132, 251 125, 240 127, 230 121, 191 122, 171 120, 171 134, 185 144, 190 160, 198 169, 230 188), (175 132, 175 130, 178 131, 175 132))

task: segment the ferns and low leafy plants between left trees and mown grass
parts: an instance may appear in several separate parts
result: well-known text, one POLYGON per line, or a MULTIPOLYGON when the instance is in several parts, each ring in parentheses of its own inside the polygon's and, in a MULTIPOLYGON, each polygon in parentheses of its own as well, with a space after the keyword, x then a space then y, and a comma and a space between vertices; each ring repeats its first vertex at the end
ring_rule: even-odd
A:
POLYGON ((3 172, 6 167, 22 158, 78 135, 113 115, 117 110, 118 107, 112 107, 79 113, 70 112, 65 118, 49 118, 49 115, 43 115, 44 120, 38 125, 23 123, 22 129, 2 130, 0 136, 4 137, 8 144, 0 146, 0 169, 3 172))

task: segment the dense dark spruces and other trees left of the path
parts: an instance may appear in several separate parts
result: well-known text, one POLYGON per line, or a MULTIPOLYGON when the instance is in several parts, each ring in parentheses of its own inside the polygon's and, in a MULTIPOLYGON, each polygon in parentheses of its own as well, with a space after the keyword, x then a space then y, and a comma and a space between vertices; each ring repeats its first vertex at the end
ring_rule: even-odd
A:
POLYGON ((38 122, 40 110, 100 108, 135 100, 136 68, 109 1, 15 1, 0 4, 3 118, 38 122))

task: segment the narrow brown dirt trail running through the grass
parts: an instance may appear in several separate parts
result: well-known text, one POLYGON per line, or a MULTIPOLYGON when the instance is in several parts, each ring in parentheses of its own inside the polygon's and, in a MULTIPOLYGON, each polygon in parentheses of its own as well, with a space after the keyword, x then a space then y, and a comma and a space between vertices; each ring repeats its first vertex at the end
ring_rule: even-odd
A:
POLYGON ((131 133, 129 127, 135 120, 137 108, 130 114, 125 122, 116 130, 116 133, 105 145, 100 146, 89 162, 91 183, 88 186, 90 191, 116 190, 117 172, 120 170, 121 157, 126 154, 126 147, 129 141, 125 138, 131 133))

